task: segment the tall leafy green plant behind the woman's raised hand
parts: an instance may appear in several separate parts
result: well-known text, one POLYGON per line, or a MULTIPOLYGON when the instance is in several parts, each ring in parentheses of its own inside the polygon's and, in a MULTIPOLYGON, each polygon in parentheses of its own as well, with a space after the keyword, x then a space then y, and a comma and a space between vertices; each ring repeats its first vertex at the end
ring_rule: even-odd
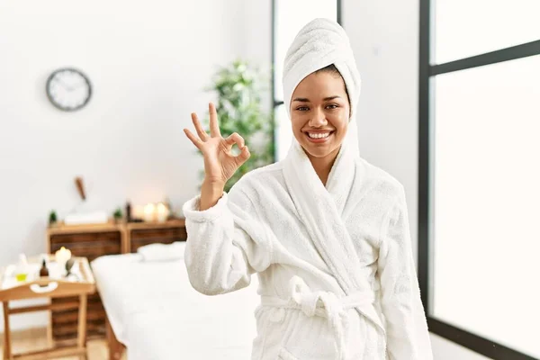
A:
MULTIPOLYGON (((235 60, 227 67, 221 67, 212 78, 206 90, 217 94, 216 111, 220 132, 227 138, 238 132, 249 146, 251 157, 232 175, 225 191, 250 170, 274 162, 274 116, 263 111, 261 93, 265 78, 257 67, 244 60, 235 60)), ((205 119, 208 128, 209 117, 205 119)), ((233 148, 238 151, 238 148, 233 148)), ((203 172, 202 172, 203 175, 203 172)))

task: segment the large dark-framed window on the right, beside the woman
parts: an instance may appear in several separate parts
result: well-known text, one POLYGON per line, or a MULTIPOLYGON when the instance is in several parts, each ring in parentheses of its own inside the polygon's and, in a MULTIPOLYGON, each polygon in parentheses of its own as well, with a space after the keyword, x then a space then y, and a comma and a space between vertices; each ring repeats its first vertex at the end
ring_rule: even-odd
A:
POLYGON ((419 278, 429 329, 540 358, 540 2, 421 0, 419 278))

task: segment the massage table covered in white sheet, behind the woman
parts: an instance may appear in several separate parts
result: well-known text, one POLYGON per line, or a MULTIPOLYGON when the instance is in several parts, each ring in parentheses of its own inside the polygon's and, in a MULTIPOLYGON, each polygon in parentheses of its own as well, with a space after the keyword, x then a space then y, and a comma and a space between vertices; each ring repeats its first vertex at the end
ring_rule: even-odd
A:
POLYGON ((110 359, 249 359, 256 336, 257 276, 234 293, 206 296, 189 283, 184 260, 139 254, 92 262, 107 314, 110 359))

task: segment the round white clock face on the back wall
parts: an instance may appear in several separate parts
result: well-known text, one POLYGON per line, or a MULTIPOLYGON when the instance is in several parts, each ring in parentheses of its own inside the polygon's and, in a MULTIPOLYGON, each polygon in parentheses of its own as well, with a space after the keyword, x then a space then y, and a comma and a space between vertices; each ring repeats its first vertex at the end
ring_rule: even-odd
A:
POLYGON ((85 106, 92 94, 88 78, 75 68, 61 68, 52 73, 46 88, 50 102, 67 112, 85 106))

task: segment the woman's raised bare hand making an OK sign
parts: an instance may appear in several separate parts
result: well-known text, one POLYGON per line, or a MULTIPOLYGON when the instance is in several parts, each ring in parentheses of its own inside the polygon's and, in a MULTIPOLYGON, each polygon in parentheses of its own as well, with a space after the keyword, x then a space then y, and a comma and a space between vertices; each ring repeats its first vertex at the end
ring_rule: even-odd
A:
POLYGON ((225 185, 229 178, 249 158, 249 149, 244 139, 233 133, 227 139, 223 139, 218 125, 218 114, 213 103, 208 105, 210 111, 210 136, 202 130, 201 122, 197 114, 192 113, 193 126, 199 135, 196 137, 190 130, 184 129, 185 135, 199 148, 204 157, 205 183, 225 185), (237 144, 241 152, 234 156, 230 149, 237 144))

